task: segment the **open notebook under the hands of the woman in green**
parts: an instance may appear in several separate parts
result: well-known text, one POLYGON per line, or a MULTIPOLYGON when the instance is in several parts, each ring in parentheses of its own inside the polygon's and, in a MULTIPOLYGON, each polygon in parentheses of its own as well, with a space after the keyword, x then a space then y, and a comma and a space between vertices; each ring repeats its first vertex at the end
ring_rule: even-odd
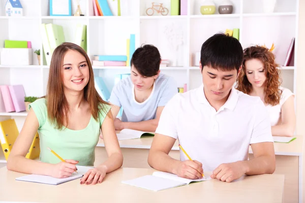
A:
POLYGON ((82 165, 76 165, 77 167, 77 174, 73 174, 68 178, 53 178, 51 176, 43 176, 43 175, 26 175, 16 178, 17 181, 28 181, 28 182, 35 182, 35 183, 44 183, 44 184, 50 184, 50 185, 58 185, 60 183, 65 183, 68 181, 72 181, 78 178, 83 177, 85 173, 93 167, 89 166, 82 166, 82 165))

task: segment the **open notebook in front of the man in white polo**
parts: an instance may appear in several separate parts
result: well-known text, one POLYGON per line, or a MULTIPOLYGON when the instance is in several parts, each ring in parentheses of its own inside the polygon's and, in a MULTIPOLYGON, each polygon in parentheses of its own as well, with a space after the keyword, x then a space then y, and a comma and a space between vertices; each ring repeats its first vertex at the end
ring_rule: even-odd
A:
POLYGON ((177 175, 166 172, 154 172, 153 175, 147 175, 128 181, 122 181, 122 183, 144 188, 147 190, 159 191, 173 187, 178 187, 181 185, 188 185, 191 182, 200 182, 211 179, 208 174, 204 174, 204 176, 206 177, 206 179, 202 178, 202 179, 191 180, 186 178, 180 178, 177 175))

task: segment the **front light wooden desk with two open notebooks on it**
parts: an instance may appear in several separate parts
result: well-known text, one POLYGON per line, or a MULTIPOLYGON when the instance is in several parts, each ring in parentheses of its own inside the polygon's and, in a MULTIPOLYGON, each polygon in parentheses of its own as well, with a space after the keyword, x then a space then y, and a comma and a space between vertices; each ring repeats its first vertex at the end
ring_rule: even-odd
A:
POLYGON ((60 185, 16 181, 24 174, 0 169, 0 200, 28 202, 282 202, 284 176, 245 176, 226 183, 209 180, 158 192, 121 183, 155 170, 119 168, 97 185, 80 185, 79 179, 60 185))

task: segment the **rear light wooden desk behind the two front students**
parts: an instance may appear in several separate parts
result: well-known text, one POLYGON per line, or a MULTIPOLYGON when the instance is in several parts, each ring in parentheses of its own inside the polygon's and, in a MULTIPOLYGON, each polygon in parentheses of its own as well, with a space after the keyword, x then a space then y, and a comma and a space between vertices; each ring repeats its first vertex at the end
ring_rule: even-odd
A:
MULTIPOLYGON (((147 163, 148 152, 153 142, 153 137, 119 141, 124 156, 123 167, 150 168, 147 163)), ((302 202, 302 153, 304 139, 297 139, 289 144, 275 143, 276 171, 274 174, 285 175, 284 202, 302 202)), ((95 165, 107 158, 103 140, 100 140, 96 148, 95 165)), ((178 141, 175 142, 169 155, 179 159, 178 141)), ((249 158, 253 158, 253 152, 249 147, 249 158)))

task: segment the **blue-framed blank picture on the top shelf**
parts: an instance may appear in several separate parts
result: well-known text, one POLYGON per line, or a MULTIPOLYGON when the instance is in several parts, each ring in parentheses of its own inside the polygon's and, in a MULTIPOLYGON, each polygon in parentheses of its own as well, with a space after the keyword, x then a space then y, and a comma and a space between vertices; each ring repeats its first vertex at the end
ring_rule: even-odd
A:
POLYGON ((50 0, 50 16, 72 16, 71 0, 50 0))

